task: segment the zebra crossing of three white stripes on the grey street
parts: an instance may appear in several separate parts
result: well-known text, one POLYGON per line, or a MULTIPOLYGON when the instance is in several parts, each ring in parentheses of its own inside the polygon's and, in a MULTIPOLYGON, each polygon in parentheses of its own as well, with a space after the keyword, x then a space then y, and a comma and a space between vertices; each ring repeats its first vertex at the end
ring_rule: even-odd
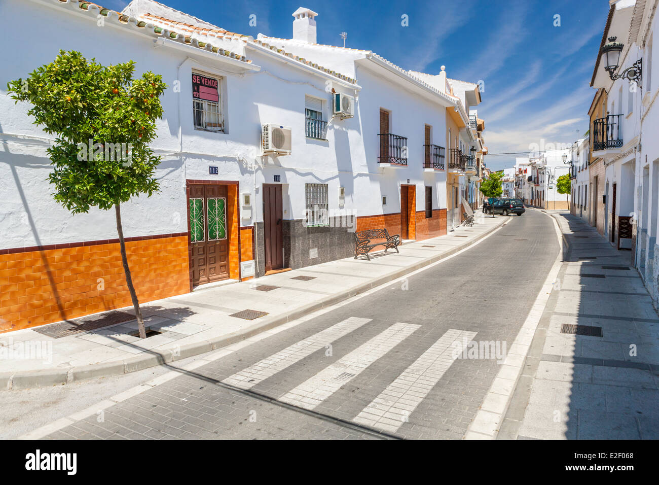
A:
MULTIPOLYGON (((241 389, 251 389, 371 321, 372 319, 359 317, 345 319, 230 375, 222 382, 241 389)), ((412 323, 390 325, 320 372, 277 397, 277 401, 314 410, 369 366, 384 358, 420 327, 421 325, 412 323)), ((384 390, 375 399, 370 403, 364 400, 366 405, 352 420, 378 430, 397 432, 405 422, 409 421, 418 404, 428 396, 475 336, 475 332, 448 329, 440 339, 433 342, 416 358, 413 364, 386 387, 383 385, 384 390)), ((357 409, 359 408, 355 409, 356 413, 357 409)))

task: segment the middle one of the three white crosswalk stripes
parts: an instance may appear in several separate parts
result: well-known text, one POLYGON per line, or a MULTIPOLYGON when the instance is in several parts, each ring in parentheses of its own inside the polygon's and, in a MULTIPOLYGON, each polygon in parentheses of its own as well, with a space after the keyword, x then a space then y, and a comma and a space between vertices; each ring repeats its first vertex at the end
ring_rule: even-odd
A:
POLYGON ((358 346, 331 366, 307 379, 292 391, 279 398, 283 403, 313 409, 345 383, 357 377, 370 364, 384 356, 397 344, 407 339, 420 325, 395 323, 368 342, 358 346))

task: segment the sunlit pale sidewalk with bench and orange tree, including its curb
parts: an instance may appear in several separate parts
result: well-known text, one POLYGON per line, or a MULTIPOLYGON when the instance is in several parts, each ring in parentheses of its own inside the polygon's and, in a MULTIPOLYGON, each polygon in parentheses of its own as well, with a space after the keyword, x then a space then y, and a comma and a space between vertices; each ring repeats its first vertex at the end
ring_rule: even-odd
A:
MULTIPOLYGON (((59 338, 34 329, 5 333, 0 335, 0 389, 129 373, 210 352, 440 261, 509 220, 478 211, 472 227, 405 243, 399 254, 376 253, 372 261, 340 259, 150 302, 142 305, 142 315, 156 334, 144 340, 131 335, 135 320, 59 338), (231 316, 244 310, 266 315, 231 316)), ((122 311, 134 315, 132 307, 122 311)))

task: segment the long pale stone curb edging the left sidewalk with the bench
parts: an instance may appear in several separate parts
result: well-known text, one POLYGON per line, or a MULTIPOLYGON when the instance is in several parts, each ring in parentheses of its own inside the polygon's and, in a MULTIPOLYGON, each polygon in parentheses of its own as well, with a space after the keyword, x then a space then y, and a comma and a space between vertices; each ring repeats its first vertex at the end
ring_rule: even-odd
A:
POLYGON ((91 364, 89 366, 71 366, 69 368, 61 369, 28 370, 22 372, 3 372, 0 373, 0 391, 16 391, 19 389, 30 389, 34 387, 49 387, 52 385, 63 385, 72 382, 95 379, 98 377, 111 377, 113 375, 127 374, 159 366, 161 364, 169 364, 170 362, 176 362, 177 360, 184 358, 205 354, 212 350, 218 350, 219 348, 235 344, 241 340, 249 339, 250 337, 254 337, 254 335, 268 331, 274 327, 288 323, 289 321, 299 319, 314 311, 335 305, 343 300, 347 300, 348 298, 372 290, 377 286, 386 284, 400 278, 401 276, 405 276, 408 273, 413 273, 414 271, 437 263, 438 261, 441 261, 458 251, 462 251, 482 240, 485 236, 488 236, 492 232, 508 224, 510 220, 511 219, 509 218, 508 220, 501 222, 501 224, 497 224, 486 232, 479 234, 473 240, 457 245, 442 254, 434 255, 428 259, 424 259, 424 261, 419 261, 413 265, 391 271, 391 273, 387 273, 386 275, 378 276, 368 282, 358 284, 353 288, 343 290, 342 292, 328 296, 318 302, 297 308, 277 317, 272 317, 272 319, 263 321, 263 323, 251 325, 242 331, 181 346, 177 348, 176 354, 172 350, 148 350, 145 352, 146 355, 143 354, 141 356, 135 356, 114 362, 91 364))

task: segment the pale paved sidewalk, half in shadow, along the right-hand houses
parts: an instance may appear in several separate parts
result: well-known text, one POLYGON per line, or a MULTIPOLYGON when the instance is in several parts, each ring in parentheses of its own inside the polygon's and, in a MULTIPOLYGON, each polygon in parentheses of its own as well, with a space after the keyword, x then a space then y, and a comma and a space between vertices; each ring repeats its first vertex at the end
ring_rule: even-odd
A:
POLYGON ((547 212, 563 264, 498 438, 657 439, 659 315, 631 252, 547 212))

